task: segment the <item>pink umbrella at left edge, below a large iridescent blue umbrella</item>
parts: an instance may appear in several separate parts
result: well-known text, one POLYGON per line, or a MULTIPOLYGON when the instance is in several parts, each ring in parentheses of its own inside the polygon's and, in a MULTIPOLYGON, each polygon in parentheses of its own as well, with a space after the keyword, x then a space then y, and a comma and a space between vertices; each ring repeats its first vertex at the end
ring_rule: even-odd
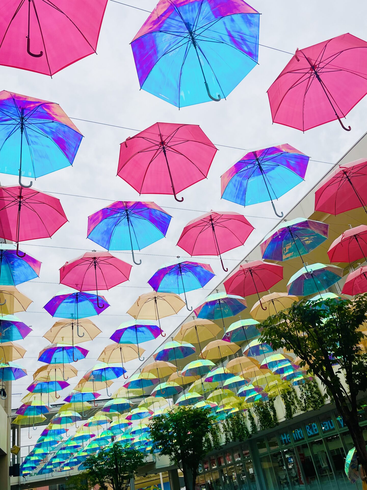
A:
POLYGON ((17 243, 51 237, 68 221, 59 199, 34 188, 0 187, 0 237, 17 243))

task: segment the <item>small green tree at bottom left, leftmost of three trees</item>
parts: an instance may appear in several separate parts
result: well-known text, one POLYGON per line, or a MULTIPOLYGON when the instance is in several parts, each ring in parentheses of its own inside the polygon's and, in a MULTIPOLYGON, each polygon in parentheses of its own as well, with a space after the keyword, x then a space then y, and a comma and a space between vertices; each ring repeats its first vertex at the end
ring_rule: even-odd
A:
POLYGON ((130 480, 144 461, 145 455, 141 451, 115 442, 111 447, 102 448, 97 454, 88 456, 83 466, 89 481, 102 489, 109 484, 113 490, 127 490, 130 480))

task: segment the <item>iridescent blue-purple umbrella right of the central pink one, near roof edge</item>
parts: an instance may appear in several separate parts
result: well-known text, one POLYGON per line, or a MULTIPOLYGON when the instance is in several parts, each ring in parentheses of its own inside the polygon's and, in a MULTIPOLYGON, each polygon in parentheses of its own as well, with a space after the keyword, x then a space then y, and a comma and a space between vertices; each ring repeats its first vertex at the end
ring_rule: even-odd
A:
POLYGON ((271 201, 304 180, 309 157, 291 145, 278 145, 246 153, 221 177, 222 198, 242 206, 271 201))

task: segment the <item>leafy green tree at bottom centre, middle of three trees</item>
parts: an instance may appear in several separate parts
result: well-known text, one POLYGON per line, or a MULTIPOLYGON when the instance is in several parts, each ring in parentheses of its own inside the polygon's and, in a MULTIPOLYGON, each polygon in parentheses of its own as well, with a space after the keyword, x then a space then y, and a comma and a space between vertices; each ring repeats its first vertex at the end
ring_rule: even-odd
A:
POLYGON ((150 424, 153 450, 159 449, 172 464, 179 466, 187 490, 195 488, 199 463, 208 452, 205 440, 214 424, 215 417, 209 409, 193 407, 159 415, 150 424))

